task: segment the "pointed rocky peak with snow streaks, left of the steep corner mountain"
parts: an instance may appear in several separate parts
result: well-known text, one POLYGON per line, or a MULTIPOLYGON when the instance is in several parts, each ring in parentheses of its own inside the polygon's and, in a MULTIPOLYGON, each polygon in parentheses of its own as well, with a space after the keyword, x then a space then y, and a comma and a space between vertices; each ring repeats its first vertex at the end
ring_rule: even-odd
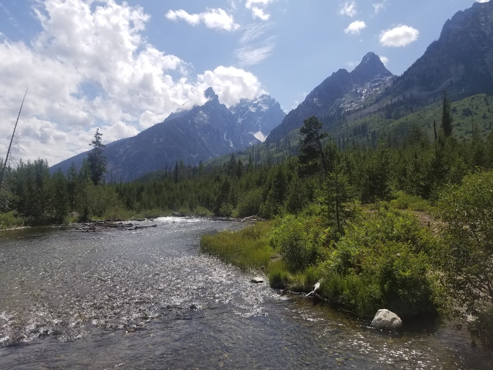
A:
POLYGON ((267 142, 282 139, 290 131, 303 126, 303 120, 311 115, 336 117, 373 103, 390 86, 394 77, 380 58, 369 52, 352 72, 340 69, 320 83, 272 130, 267 142))

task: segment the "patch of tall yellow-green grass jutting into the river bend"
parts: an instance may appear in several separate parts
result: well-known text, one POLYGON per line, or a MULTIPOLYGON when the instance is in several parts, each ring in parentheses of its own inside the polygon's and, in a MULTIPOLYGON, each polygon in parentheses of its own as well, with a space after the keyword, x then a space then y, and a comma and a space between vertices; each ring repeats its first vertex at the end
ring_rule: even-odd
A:
POLYGON ((207 253, 240 267, 242 270, 264 269, 274 255, 268 242, 268 222, 250 224, 240 231, 221 231, 200 240, 202 253, 207 253))

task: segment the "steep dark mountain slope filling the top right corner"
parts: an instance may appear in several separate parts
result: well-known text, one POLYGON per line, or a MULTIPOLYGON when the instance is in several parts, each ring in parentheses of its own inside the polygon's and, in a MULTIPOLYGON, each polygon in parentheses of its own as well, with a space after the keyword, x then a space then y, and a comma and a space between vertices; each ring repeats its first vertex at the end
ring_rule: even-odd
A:
POLYGON ((444 90, 458 100, 493 93, 493 1, 475 2, 447 20, 438 40, 398 77, 388 93, 432 102, 444 90))

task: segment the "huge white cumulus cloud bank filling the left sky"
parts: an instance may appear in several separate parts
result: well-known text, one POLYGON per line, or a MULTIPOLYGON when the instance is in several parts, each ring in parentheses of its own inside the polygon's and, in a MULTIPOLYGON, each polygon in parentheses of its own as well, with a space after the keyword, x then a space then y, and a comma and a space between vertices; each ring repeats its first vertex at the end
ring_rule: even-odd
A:
POLYGON ((242 69, 217 67, 191 75, 190 65, 149 44, 149 16, 115 0, 35 2, 41 31, 28 42, 0 38, 0 150, 6 152, 22 97, 18 158, 50 165, 89 149, 96 127, 108 143, 134 136, 173 111, 264 92, 242 69))

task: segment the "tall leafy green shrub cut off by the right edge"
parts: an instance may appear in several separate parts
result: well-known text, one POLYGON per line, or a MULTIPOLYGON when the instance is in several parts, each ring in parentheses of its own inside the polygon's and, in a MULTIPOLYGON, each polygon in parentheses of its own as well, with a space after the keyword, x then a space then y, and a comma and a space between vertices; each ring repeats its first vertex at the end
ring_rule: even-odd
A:
POLYGON ((456 307, 478 316, 493 302, 493 171, 465 176, 437 203, 444 222, 437 260, 456 307))

